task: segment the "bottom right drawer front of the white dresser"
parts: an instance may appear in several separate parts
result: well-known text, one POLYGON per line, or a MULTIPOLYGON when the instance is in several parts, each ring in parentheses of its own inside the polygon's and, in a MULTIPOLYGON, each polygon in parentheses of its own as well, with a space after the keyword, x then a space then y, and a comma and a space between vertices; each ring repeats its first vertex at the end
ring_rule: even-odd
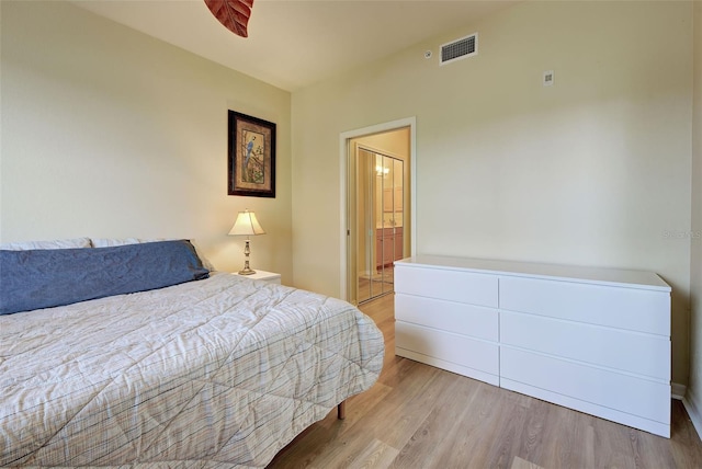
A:
POLYGON ((670 386, 545 355, 500 350, 500 376, 536 388, 670 423, 670 386))

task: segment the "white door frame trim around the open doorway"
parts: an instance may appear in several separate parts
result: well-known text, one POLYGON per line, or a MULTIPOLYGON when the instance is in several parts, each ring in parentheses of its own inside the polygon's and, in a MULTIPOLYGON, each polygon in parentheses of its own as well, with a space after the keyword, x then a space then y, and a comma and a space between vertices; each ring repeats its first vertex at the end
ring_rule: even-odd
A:
POLYGON ((397 121, 376 124, 370 127, 358 128, 354 130, 343 131, 339 135, 339 214, 342 214, 340 218, 339 229, 339 297, 341 299, 348 299, 348 230, 349 216, 348 216, 348 171, 349 171, 349 140, 367 135, 382 134, 390 130, 398 130, 400 128, 409 127, 409 222, 410 222, 410 253, 415 255, 417 249, 417 117, 406 117, 397 121))

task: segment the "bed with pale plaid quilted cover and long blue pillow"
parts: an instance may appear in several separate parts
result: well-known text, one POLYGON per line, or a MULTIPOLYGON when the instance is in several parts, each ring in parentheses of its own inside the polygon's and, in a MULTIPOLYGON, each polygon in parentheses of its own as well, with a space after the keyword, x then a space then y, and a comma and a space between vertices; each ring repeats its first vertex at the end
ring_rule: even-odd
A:
MULTIPOLYGON (((199 278, 155 288, 141 278, 149 288, 114 294, 132 281, 105 274, 120 262, 102 253, 157 244, 0 249, 0 466, 265 467, 376 381, 383 335, 356 308, 210 272, 188 241, 186 270, 199 278), (95 253, 101 272, 84 265, 95 253), (95 275, 111 284, 78 288, 94 298, 8 312, 38 277, 65 290, 95 275)), ((141 251, 127 255, 137 277, 181 268, 141 251)))

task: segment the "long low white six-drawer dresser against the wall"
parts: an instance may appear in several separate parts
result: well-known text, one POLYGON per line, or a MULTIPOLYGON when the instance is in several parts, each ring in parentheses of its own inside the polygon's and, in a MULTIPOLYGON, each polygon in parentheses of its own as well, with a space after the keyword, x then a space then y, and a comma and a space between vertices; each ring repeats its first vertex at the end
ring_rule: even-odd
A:
POLYGON ((395 263, 395 353, 670 436, 670 286, 650 272, 395 263))

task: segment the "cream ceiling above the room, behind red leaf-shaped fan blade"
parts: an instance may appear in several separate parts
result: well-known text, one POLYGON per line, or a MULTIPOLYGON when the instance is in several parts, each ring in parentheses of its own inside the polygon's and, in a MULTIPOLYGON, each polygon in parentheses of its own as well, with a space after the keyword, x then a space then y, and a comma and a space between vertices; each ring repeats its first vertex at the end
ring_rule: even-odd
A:
MULTIPOLYGON (((256 0, 244 38, 203 0, 75 4, 287 91, 471 25, 516 0, 256 0)), ((465 31, 465 34, 475 31, 465 31)))

